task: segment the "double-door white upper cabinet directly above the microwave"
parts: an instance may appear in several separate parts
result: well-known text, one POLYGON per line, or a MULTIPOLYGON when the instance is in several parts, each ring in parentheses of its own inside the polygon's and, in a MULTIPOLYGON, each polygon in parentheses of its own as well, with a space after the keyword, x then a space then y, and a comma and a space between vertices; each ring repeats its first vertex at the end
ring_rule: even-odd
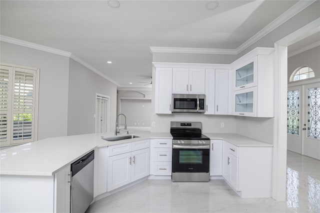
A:
POLYGON ((204 94, 204 68, 173 68, 172 93, 204 94))

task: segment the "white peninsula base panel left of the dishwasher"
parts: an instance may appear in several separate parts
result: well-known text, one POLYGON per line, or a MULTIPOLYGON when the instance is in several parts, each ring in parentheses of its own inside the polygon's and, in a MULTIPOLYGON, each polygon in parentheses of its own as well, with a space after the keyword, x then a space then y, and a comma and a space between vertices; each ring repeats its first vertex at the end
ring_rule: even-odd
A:
POLYGON ((70 165, 51 176, 0 175, 0 212, 70 212, 70 165))

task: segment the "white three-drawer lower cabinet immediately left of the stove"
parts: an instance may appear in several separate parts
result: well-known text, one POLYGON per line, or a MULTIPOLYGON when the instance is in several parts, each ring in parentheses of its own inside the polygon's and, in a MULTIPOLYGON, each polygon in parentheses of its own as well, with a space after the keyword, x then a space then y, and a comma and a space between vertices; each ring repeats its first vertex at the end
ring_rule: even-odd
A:
POLYGON ((151 139, 150 174, 171 175, 172 139, 151 139))

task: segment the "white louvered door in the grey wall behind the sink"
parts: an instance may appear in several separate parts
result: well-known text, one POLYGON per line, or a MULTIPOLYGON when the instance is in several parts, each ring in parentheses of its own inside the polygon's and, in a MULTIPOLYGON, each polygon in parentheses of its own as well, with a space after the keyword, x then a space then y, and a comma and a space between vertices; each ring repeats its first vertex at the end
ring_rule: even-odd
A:
POLYGON ((108 129, 107 121, 107 98, 96 98, 96 111, 95 111, 95 132, 106 132, 108 129))

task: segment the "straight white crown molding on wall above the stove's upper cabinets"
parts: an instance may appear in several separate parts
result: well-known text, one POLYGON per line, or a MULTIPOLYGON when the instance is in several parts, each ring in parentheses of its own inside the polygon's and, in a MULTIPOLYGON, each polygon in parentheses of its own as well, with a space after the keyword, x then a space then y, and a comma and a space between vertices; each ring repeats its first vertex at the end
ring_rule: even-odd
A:
POLYGON ((152 53, 164 52, 164 53, 192 53, 192 54, 237 54, 235 49, 161 47, 161 46, 150 46, 150 51, 152 53))

